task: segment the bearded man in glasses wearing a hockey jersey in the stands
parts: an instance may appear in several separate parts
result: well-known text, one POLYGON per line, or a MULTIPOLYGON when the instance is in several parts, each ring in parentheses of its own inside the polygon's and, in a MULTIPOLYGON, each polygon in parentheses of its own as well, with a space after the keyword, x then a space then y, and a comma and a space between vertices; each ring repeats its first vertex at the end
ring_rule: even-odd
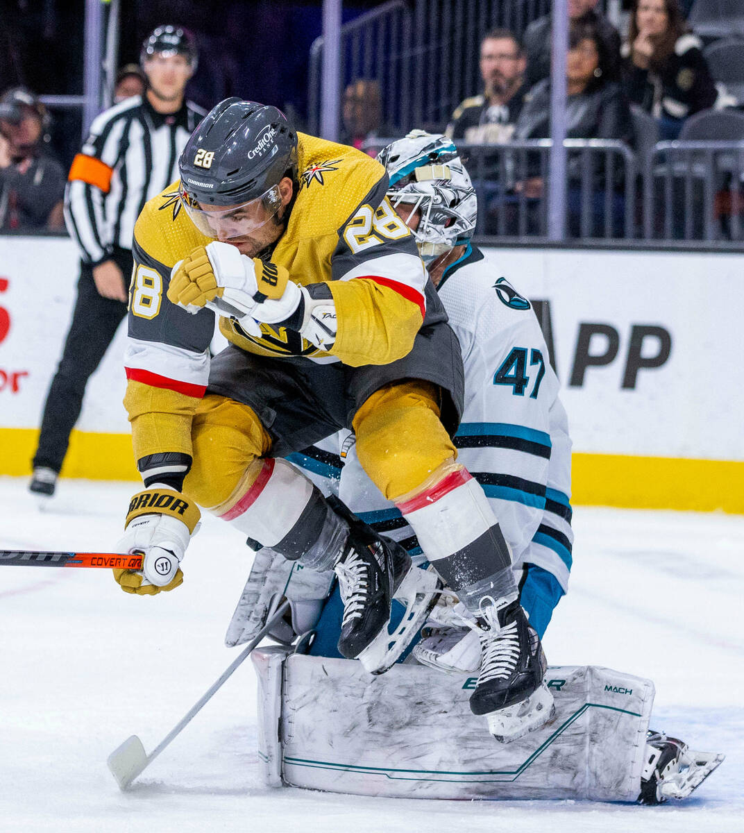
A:
POLYGON ((493 29, 481 41, 481 95, 466 98, 452 113, 447 137, 487 144, 508 142, 527 93, 527 58, 517 36, 493 29))

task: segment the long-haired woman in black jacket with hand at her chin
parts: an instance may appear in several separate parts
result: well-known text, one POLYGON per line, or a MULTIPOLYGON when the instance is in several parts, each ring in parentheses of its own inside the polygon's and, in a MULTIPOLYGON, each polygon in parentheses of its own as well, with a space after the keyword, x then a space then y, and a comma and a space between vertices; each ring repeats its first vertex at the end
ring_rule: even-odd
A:
POLYGON ((662 139, 676 139, 688 116, 716 102, 701 49, 677 0, 635 0, 622 47, 623 83, 631 101, 657 119, 662 139))

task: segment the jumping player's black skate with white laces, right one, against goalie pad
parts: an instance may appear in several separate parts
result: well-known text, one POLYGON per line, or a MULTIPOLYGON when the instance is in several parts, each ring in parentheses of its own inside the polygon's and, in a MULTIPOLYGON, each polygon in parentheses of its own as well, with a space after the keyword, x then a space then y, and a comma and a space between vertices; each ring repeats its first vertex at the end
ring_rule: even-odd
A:
POLYGON ((555 713, 543 682, 547 662, 540 638, 519 601, 497 609, 492 599, 483 600, 477 623, 482 664, 470 708, 486 716, 497 741, 514 741, 544 726, 555 713))

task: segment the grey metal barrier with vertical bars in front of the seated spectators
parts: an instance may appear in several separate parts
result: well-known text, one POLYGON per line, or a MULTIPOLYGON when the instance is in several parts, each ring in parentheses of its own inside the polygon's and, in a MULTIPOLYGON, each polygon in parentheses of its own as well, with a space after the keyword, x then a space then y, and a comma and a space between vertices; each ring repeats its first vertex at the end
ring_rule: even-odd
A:
MULTIPOLYGON (((391 141, 363 149, 375 153, 391 141)), ((455 143, 477 192, 477 235, 547 242, 551 140, 455 143)), ((648 156, 623 142, 565 146, 567 240, 744 249, 744 142, 658 142, 648 156)))

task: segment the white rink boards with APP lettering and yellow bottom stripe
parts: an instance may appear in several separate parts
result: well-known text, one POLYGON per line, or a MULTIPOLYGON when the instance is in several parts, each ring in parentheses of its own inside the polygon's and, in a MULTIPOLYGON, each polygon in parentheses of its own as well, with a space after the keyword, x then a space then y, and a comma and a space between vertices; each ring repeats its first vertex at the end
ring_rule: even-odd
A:
MULTIPOLYGON (((744 512, 742 256, 485 251, 494 281, 506 277, 536 302, 571 426, 573 501, 744 512)), ((77 252, 63 238, 0 237, 0 264, 0 474, 25 475, 70 321, 77 252)), ((63 475, 137 479, 123 331, 89 383, 63 475)))

